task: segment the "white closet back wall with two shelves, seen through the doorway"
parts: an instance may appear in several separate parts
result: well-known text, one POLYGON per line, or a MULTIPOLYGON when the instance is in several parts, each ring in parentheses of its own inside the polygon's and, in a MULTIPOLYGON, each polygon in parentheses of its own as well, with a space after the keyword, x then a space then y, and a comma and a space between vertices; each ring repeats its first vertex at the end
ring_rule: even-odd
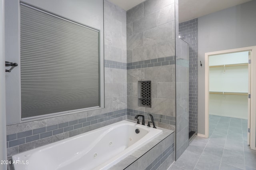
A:
POLYGON ((247 119, 248 52, 209 57, 209 114, 247 119))

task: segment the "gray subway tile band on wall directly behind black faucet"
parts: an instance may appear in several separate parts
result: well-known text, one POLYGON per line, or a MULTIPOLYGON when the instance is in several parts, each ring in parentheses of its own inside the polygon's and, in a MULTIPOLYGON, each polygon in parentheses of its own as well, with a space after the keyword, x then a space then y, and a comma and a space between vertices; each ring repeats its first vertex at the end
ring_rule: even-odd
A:
POLYGON ((143 112, 143 111, 139 111, 139 110, 128 109, 127 115, 128 116, 132 116, 133 117, 132 120, 135 119, 135 116, 137 114, 144 115, 144 118, 146 120, 150 120, 149 114, 152 114, 152 116, 154 118, 154 122, 160 122, 160 123, 164 123, 164 124, 176 125, 176 122, 175 122, 176 118, 174 116, 166 116, 166 115, 162 115, 162 114, 155 114, 155 113, 150 113, 150 112, 143 112))

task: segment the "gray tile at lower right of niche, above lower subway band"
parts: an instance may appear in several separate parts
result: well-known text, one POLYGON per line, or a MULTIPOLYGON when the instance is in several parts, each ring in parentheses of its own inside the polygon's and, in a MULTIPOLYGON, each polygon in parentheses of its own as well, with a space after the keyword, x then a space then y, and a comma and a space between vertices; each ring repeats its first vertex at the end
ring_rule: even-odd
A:
POLYGON ((145 112, 174 116, 174 104, 172 99, 152 98, 151 108, 145 108, 145 112))

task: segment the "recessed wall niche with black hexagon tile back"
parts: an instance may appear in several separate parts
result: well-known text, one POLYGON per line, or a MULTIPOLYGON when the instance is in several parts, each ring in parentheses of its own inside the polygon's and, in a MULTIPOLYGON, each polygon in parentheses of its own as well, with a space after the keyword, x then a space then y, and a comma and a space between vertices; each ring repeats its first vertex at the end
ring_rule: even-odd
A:
POLYGON ((138 81, 138 106, 151 108, 151 81, 138 81))

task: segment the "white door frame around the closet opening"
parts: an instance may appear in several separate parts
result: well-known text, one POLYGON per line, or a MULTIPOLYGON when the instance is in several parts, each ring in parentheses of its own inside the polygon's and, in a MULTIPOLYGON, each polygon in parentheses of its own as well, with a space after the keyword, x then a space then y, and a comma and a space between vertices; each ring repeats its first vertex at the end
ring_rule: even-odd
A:
MULTIPOLYGON (((243 52, 243 51, 251 51, 251 64, 248 64, 248 69, 251 68, 250 87, 256 87, 256 46, 205 53, 205 135, 204 137, 206 138, 209 137, 209 56, 232 53, 232 52, 243 52)), ((250 91, 248 92, 250 92, 251 94, 250 117, 249 117, 250 118, 250 148, 253 150, 256 150, 256 88, 251 88, 250 91)))

